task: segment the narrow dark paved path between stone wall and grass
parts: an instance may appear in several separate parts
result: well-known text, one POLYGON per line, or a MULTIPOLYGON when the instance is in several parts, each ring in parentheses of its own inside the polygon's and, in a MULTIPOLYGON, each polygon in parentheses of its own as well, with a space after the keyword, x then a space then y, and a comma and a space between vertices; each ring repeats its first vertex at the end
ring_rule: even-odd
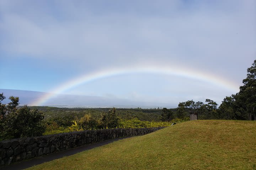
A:
MULTIPOLYGON (((128 137, 132 137, 132 136, 128 136, 128 137)), ((108 143, 112 143, 114 141, 118 141, 124 138, 128 138, 128 137, 122 137, 122 138, 115 138, 115 139, 110 139, 107 141, 102 141, 102 142, 97 142, 97 143, 92 143, 89 145, 84 145, 81 147, 76 147, 76 148, 72 148, 72 149, 68 149, 65 151, 61 151, 61 152, 56 152, 56 153, 52 153, 49 155, 42 155, 40 157, 36 157, 30 160, 23 160, 21 162, 16 162, 14 164, 8 165, 8 166, 4 166, 4 167, 0 167, 0 170, 21 170, 21 169, 26 169, 29 168, 31 166, 34 165, 38 165, 38 164, 42 164, 44 162, 48 162, 54 159, 58 159, 58 158, 62 158, 62 157, 66 157, 69 155, 73 155, 85 150, 89 150, 95 147, 99 147, 102 145, 106 145, 108 143)))

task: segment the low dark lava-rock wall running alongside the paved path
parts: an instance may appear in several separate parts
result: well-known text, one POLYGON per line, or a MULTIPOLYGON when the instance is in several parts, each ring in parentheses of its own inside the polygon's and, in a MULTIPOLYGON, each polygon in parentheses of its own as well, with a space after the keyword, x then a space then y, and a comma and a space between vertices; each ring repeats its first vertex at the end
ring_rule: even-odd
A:
POLYGON ((162 128, 85 130, 1 141, 0 166, 112 138, 145 135, 162 128))

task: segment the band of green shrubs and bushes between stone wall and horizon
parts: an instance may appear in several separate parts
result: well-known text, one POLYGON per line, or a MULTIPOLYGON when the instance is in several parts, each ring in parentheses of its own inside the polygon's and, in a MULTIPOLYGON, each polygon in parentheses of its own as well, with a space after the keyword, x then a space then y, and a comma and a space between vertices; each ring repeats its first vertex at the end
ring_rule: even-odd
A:
POLYGON ((0 141, 81 130, 170 126, 172 122, 189 120, 188 117, 177 118, 172 112, 173 109, 166 108, 163 108, 164 112, 162 112, 159 108, 117 110, 116 108, 68 109, 26 105, 17 107, 18 97, 9 97, 11 102, 8 104, 1 103, 5 98, 3 94, 0 94, 0 97, 0 141), (151 121, 145 121, 145 118, 140 120, 141 115, 145 115, 145 118, 151 121))

